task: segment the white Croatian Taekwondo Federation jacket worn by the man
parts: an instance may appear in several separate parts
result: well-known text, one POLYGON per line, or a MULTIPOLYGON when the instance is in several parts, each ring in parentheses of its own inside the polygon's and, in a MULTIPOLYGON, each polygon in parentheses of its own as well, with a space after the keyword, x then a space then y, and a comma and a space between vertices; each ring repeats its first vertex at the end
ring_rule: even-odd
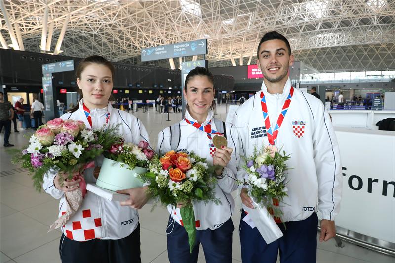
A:
MULTIPOLYGON (((282 94, 270 94, 265 83, 262 84, 272 129, 290 88, 289 79, 282 94)), ((240 154, 246 157, 252 155, 254 146, 261 149, 262 143, 269 145, 260 94, 261 91, 257 92, 242 104, 233 119, 242 147, 240 154)), ((282 221, 300 221, 317 210, 324 219, 334 220, 340 209, 342 165, 335 131, 320 100, 294 89, 291 104, 278 132, 276 147, 291 154, 287 162, 288 168, 291 168, 286 185, 288 197, 280 203, 284 213, 282 221), (297 125, 295 121, 298 121, 297 125), (304 125, 299 124, 301 121, 304 125), (298 132, 301 126, 304 126, 303 134, 298 132)), ((245 170, 240 166, 237 178, 241 180, 243 175, 245 170)))

